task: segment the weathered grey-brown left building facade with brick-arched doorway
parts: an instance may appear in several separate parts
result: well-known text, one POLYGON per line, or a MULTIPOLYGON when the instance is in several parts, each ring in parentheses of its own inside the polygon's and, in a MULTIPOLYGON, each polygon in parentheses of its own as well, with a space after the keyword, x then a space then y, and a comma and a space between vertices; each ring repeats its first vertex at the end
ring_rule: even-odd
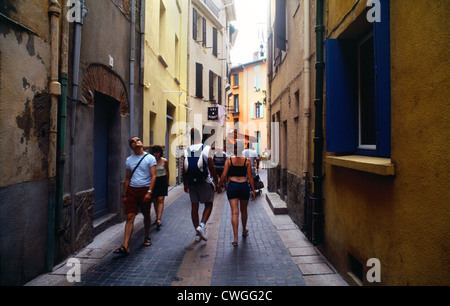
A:
POLYGON ((123 219, 128 139, 142 126, 141 4, 2 3, 2 285, 50 271, 123 219))

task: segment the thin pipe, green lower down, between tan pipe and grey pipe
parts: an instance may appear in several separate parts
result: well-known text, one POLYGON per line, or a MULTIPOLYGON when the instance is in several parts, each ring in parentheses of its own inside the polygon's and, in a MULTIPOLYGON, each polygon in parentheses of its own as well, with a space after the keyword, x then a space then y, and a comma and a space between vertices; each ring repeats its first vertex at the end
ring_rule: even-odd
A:
POLYGON ((63 202, 64 202, 64 166, 66 163, 66 118, 67 118, 67 80, 69 61, 69 22, 67 18, 68 7, 62 8, 62 35, 61 35, 61 97, 58 107, 58 160, 56 164, 56 231, 63 231, 63 202))

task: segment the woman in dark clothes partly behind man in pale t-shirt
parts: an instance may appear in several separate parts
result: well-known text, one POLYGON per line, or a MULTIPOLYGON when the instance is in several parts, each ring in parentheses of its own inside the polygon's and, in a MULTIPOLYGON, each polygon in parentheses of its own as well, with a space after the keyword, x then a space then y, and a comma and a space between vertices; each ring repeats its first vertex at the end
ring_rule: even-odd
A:
POLYGON ((162 226, 161 217, 164 211, 164 199, 167 197, 167 190, 169 188, 169 163, 163 157, 164 151, 161 146, 153 146, 150 152, 156 158, 156 182, 152 192, 152 201, 156 213, 155 223, 157 229, 160 230, 162 226))

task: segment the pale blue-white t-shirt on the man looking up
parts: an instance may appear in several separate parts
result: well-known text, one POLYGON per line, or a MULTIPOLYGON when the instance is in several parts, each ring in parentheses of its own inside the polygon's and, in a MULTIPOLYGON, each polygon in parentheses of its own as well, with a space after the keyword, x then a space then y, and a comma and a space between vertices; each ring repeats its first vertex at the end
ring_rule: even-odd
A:
MULTIPOLYGON (((127 169, 133 171, 134 167, 136 167, 143 156, 144 155, 130 155, 126 161, 127 169)), ((139 164, 136 171, 134 171, 134 174, 131 177, 130 186, 135 188, 149 187, 152 182, 150 168, 153 166, 156 166, 156 158, 153 155, 148 154, 139 164)))

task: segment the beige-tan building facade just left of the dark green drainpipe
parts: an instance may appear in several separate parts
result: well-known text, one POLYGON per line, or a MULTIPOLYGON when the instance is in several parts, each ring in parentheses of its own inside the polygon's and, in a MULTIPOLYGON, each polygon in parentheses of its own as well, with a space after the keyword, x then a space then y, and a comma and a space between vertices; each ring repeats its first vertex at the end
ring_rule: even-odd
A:
POLYGON ((268 189, 278 193, 301 228, 312 173, 314 1, 271 1, 268 14, 268 189))

